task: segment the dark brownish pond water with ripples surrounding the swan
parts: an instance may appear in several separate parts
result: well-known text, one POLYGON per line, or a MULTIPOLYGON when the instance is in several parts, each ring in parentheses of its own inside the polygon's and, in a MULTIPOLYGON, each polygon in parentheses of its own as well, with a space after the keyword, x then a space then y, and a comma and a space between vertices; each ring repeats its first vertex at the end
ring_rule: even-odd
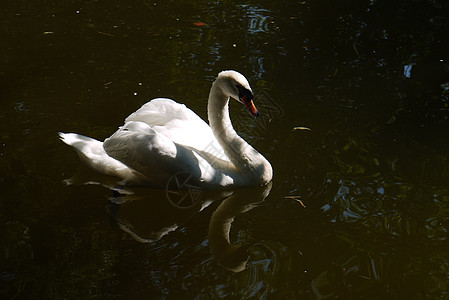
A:
POLYGON ((7 1, 0 16, 1 298, 449 298, 449 2, 7 1), (200 191, 215 200, 200 211, 63 183, 115 185, 58 131, 102 140, 159 96, 206 118, 224 69, 256 91, 262 118, 231 117, 271 190, 200 191))

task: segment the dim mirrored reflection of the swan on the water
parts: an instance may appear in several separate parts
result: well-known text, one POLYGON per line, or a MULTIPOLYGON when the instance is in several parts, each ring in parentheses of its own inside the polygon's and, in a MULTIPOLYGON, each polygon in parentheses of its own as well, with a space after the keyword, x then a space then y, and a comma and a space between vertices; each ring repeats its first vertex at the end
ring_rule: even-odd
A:
POLYGON ((225 200, 215 209, 209 222, 208 239, 212 254, 228 270, 239 272, 245 269, 249 248, 254 244, 231 244, 229 233, 234 218, 254 208, 265 200, 272 184, 251 189, 233 191, 204 191, 196 206, 188 209, 173 206, 161 190, 148 192, 136 190, 126 195, 121 204, 111 203, 110 212, 120 228, 136 241, 151 243, 176 230, 195 216, 205 205, 225 200), (140 194, 140 195, 139 195, 140 194), (151 197, 151 201, 148 201, 151 197))

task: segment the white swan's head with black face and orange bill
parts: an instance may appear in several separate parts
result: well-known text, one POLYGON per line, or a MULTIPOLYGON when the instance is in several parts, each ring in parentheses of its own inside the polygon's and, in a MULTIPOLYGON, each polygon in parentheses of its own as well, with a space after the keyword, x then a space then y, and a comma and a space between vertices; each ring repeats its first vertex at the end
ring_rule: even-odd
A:
POLYGON ((253 91, 245 76, 236 71, 223 71, 218 74, 216 82, 220 82, 227 96, 244 104, 251 115, 256 118, 259 116, 259 111, 253 103, 253 91))

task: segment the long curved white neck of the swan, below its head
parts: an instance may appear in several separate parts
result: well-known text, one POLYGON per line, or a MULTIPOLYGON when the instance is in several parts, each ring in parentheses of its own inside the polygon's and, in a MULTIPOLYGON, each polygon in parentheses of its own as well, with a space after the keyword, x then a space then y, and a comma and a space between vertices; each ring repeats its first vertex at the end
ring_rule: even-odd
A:
POLYGON ((229 96, 215 81, 209 94, 208 118, 213 134, 245 181, 266 184, 272 178, 270 163, 234 130, 229 117, 229 96))

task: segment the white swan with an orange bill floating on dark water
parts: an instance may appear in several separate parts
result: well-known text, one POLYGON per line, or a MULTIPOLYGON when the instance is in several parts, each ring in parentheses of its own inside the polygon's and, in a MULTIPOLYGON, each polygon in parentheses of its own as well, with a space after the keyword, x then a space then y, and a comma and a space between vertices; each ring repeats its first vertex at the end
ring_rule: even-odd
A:
POLYGON ((59 135, 91 168, 125 184, 164 187, 183 174, 186 184, 208 189, 265 185, 273 177, 271 164, 235 132, 229 98, 259 116, 246 78, 223 71, 209 93, 210 127, 185 105, 157 98, 126 118, 104 143, 75 133, 59 135))

